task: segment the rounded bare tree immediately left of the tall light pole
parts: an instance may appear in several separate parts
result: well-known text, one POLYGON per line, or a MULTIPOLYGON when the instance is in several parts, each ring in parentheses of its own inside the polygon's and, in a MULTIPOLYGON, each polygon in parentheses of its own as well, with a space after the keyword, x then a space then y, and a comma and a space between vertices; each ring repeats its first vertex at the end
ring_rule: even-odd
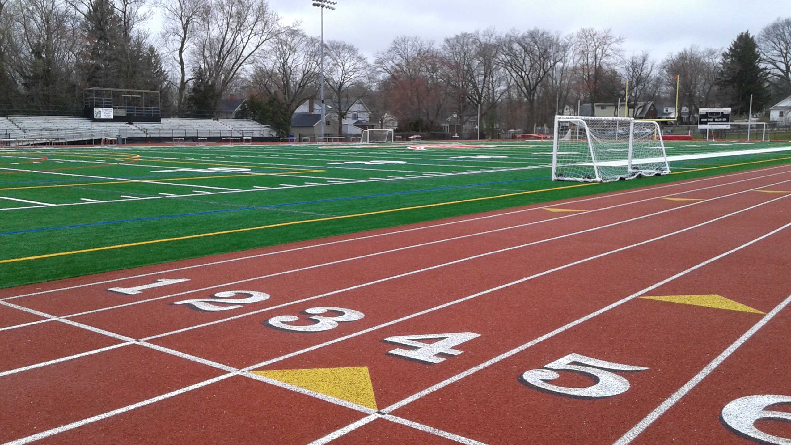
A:
POLYGON ((316 95, 321 44, 301 29, 288 29, 274 36, 258 58, 252 86, 277 97, 291 116, 308 97, 316 95))

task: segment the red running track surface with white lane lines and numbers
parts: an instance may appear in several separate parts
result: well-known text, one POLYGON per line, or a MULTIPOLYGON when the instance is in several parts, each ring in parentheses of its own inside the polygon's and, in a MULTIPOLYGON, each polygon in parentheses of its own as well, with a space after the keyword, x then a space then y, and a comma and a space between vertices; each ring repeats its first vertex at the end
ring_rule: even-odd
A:
POLYGON ((0 442, 791 443, 791 193, 757 191, 789 186, 784 165, 5 289, 0 442), (640 298, 668 295, 744 306, 640 298), (293 329, 325 306, 356 319, 293 329), (466 337, 392 338, 428 334, 466 337), (266 372, 359 367, 369 386, 266 372), (766 394, 781 414, 722 415, 766 394))

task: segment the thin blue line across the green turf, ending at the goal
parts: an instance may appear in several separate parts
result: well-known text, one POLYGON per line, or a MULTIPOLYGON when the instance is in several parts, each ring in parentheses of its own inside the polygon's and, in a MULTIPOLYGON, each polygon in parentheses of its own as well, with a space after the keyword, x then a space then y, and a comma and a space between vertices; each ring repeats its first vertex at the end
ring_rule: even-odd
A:
POLYGON ((54 226, 54 227, 42 227, 40 229, 28 229, 28 230, 13 230, 11 232, 0 232, 0 235, 13 235, 13 234, 28 234, 31 232, 41 232, 44 230, 59 230, 59 229, 74 229, 76 227, 88 227, 88 226, 104 226, 108 224, 119 224, 121 222, 137 222, 137 221, 149 221, 153 219, 169 219, 169 218, 181 218, 184 216, 195 216, 195 215, 210 215, 212 213, 225 213, 228 211, 245 211, 245 210, 257 210, 257 209, 266 209, 266 208, 273 208, 273 207, 286 207, 286 206, 295 206, 300 204, 312 204, 312 203, 329 203, 333 201, 346 201, 346 200, 361 200, 365 198, 377 198, 380 196, 393 196, 393 195, 403 195, 406 193, 418 193, 418 192, 436 192, 438 190, 450 190, 453 188, 471 188, 471 187, 479 187, 481 185, 494 185, 494 184, 508 184, 510 182, 520 182, 520 181, 538 181, 542 179, 550 179, 551 177, 531 177, 531 178, 524 178, 524 179, 511 179, 509 181, 494 181, 494 182, 482 182, 480 184, 467 184, 467 185, 448 185, 447 187, 435 187, 435 188, 420 188, 418 190, 406 190, 403 192, 388 192, 388 193, 376 193, 373 195, 360 195, 360 196, 347 196, 345 198, 327 198, 325 200, 311 200, 311 201, 299 201, 296 203, 279 203, 279 204, 270 204, 267 206, 254 206, 254 207, 239 207, 239 208, 227 208, 221 210, 210 210, 210 211, 197 211, 194 213, 181 213, 178 215, 162 215, 162 216, 149 216, 147 218, 134 218, 134 219, 118 219, 115 221, 103 221, 103 222, 86 222, 85 224, 72 224, 70 226, 54 226))

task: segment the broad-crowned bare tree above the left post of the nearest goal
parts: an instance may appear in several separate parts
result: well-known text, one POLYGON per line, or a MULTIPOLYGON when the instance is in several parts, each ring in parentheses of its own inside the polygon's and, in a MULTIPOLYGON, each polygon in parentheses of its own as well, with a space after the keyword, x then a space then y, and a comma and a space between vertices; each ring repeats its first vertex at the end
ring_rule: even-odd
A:
POLYGON ((536 98, 547 76, 565 58, 567 41, 558 33, 531 29, 519 33, 512 30, 502 40, 498 63, 513 81, 513 86, 526 102, 526 125, 536 124, 536 98))

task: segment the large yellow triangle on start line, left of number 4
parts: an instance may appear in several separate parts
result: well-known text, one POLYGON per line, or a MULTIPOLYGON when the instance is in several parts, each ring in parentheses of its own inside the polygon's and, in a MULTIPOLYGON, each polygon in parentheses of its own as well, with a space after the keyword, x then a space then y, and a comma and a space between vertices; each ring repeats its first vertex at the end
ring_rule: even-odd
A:
POLYGON ((315 369, 283 369, 252 371, 253 374, 278 382, 299 386, 330 397, 350 401, 370 409, 378 409, 368 367, 325 367, 315 369))

